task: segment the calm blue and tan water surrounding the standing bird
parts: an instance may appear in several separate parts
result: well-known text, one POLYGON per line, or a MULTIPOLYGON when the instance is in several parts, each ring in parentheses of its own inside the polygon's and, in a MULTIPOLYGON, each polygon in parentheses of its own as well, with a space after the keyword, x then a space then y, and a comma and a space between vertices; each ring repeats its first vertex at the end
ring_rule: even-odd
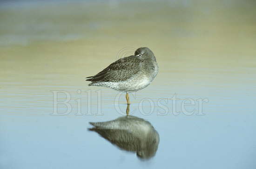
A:
POLYGON ((0 168, 256 168, 255 14, 249 0, 0 2, 0 168), (144 145, 154 127, 148 160, 108 141, 118 127, 109 139, 88 130, 127 105, 84 79, 141 46, 160 71, 130 95, 147 127, 127 130, 144 145), (70 113, 59 104, 54 115, 57 91, 70 113))

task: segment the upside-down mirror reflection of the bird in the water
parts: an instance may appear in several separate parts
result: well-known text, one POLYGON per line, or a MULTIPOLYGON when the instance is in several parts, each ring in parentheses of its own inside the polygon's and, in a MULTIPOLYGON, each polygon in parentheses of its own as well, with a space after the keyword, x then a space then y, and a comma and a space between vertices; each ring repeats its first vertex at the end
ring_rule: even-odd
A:
MULTIPOLYGON (((127 106, 127 114, 129 113, 127 106)), ((90 122, 90 131, 117 145, 121 150, 136 152, 141 159, 155 156, 159 144, 159 135, 146 120, 135 116, 123 116, 106 122, 90 122)))

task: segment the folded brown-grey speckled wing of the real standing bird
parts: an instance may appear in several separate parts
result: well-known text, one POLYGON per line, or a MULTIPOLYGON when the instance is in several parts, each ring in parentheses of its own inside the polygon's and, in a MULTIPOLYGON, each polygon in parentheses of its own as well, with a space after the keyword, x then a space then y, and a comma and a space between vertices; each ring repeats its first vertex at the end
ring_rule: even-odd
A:
POLYGON ((141 60, 137 56, 128 56, 111 63, 97 75, 87 77, 87 81, 125 81, 138 73, 141 60))

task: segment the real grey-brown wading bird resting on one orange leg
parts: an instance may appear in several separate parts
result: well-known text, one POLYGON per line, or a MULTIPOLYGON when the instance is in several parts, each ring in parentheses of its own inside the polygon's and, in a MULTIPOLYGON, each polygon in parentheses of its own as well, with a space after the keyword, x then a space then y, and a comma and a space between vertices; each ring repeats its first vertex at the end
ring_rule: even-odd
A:
POLYGON ((158 73, 154 53, 147 47, 135 50, 134 55, 123 57, 94 76, 86 77, 91 81, 88 86, 101 86, 126 92, 127 104, 129 94, 146 88, 158 73))

